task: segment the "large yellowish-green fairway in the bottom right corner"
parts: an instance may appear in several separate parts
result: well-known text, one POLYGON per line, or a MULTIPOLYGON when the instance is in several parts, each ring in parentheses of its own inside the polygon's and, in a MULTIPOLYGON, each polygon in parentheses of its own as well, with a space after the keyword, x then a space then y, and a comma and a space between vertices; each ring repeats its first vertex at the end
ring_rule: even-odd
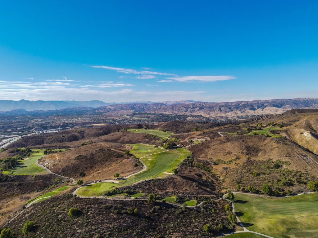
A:
POLYGON ((246 227, 275 238, 317 237, 317 202, 317 193, 286 198, 235 194, 235 210, 246 227))

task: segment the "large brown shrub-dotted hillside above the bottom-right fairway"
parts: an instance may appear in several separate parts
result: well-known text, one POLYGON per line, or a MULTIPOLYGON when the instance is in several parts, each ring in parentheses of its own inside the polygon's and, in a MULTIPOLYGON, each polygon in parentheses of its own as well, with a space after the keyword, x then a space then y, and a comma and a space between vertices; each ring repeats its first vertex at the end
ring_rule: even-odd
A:
POLYGON ((261 188, 264 182, 277 187, 278 180, 293 176, 293 189, 305 189, 306 183, 318 176, 318 156, 286 138, 231 135, 199 143, 189 149, 197 162, 213 169, 232 189, 236 183, 241 183, 245 188, 251 185, 261 188), (231 160, 232 163, 229 162, 231 160), (286 165, 273 169, 278 160, 286 165), (296 170, 300 171, 299 176, 294 175, 296 170), (257 178, 253 176, 254 171, 259 173, 257 178))

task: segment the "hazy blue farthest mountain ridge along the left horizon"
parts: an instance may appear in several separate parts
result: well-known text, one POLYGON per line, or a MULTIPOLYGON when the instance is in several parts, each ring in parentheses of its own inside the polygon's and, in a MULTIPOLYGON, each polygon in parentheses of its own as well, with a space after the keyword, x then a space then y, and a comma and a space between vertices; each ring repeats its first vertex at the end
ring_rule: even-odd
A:
MULTIPOLYGON (((180 103, 193 103, 197 101, 183 100, 178 102, 163 102, 167 105, 180 104, 180 103)), ((155 102, 102 102, 99 100, 94 101, 29 101, 29 100, 0 100, 0 111, 11 111, 17 109, 24 109, 26 111, 35 110, 59 110, 73 107, 92 107, 97 108, 100 106, 107 106, 112 104, 128 104, 128 103, 155 103, 155 102)))

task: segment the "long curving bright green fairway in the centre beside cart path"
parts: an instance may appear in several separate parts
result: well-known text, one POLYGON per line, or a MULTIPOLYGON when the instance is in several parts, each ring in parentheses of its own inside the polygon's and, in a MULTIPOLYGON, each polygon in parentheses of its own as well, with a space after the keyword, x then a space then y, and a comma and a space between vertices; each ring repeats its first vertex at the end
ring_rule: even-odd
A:
POLYGON ((184 159, 187 158, 188 155, 190 155, 190 152, 184 148, 164 151, 160 154, 149 155, 142 159, 142 162, 144 162, 147 166, 145 171, 131 176, 126 180, 120 180, 119 183, 101 182, 83 186, 77 191, 77 195, 100 196, 114 187, 128 186, 141 180, 156 177, 166 177, 168 174, 162 172, 170 173, 172 169, 176 168, 184 159))

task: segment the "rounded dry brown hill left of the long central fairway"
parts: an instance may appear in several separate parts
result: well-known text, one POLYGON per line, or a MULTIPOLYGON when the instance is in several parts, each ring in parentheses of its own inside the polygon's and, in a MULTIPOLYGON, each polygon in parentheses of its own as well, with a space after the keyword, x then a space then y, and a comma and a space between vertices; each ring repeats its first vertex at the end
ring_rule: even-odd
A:
POLYGON ((109 149, 107 143, 93 143, 60 153, 50 154, 39 160, 39 164, 48 167, 53 173, 74 178, 84 182, 113 179, 115 173, 121 176, 138 172, 140 166, 136 160, 121 152, 129 149, 109 149), (58 156, 58 160, 57 157, 58 156), (86 176, 80 176, 84 172, 86 176))

